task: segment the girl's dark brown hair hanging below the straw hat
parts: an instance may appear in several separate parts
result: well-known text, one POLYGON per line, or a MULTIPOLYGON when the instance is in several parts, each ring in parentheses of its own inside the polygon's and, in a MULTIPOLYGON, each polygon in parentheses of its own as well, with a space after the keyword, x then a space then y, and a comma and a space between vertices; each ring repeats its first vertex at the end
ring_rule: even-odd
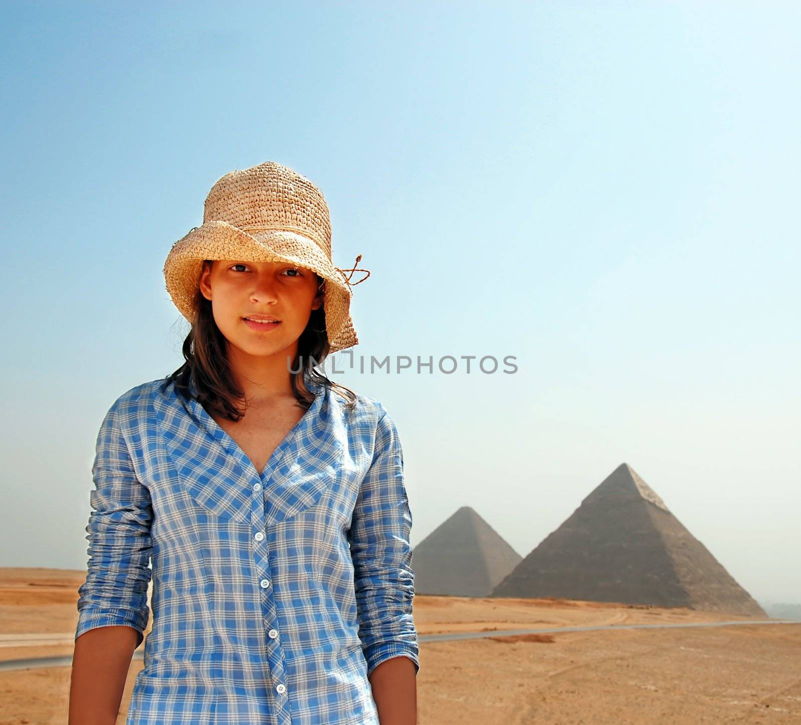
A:
MULTIPOLYGON (((204 259, 203 269, 214 264, 213 260, 204 259)), ((325 280, 316 275, 318 290, 324 289, 325 280)), ((233 422, 244 417, 240 405, 244 402, 244 391, 236 385, 226 354, 227 340, 220 332, 211 311, 211 301, 203 297, 198 289, 195 297, 195 316, 191 322, 191 330, 183 341, 183 358, 186 362, 168 379, 175 382, 175 388, 185 398, 191 397, 189 383, 193 381, 198 390, 197 401, 210 415, 219 415, 233 422)), ((314 395, 301 387, 304 372, 312 383, 319 383, 338 392, 347 401, 347 407, 356 407, 356 395, 348 387, 329 380, 315 366, 320 365, 331 350, 325 328, 325 310, 312 310, 306 329, 298 338, 298 354, 292 361, 290 379, 292 391, 301 407, 308 410, 314 401, 314 395), (302 367, 300 361, 303 362, 302 367)))

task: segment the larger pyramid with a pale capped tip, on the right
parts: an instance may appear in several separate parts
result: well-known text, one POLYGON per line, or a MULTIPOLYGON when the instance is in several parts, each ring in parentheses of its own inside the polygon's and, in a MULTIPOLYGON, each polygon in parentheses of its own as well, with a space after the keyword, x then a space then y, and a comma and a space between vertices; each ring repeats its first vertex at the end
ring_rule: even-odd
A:
POLYGON ((628 464, 582 500, 491 596, 767 616, 628 464))

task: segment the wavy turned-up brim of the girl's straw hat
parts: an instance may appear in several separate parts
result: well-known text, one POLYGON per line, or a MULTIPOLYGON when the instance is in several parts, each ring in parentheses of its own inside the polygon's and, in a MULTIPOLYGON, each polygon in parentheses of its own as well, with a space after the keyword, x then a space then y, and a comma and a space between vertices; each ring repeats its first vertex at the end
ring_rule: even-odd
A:
POLYGON ((164 262, 167 292, 183 317, 191 322, 204 259, 289 262, 312 269, 325 280, 324 310, 331 352, 359 340, 350 316, 352 290, 320 245, 285 229, 244 232, 227 221, 207 221, 176 241, 164 262))

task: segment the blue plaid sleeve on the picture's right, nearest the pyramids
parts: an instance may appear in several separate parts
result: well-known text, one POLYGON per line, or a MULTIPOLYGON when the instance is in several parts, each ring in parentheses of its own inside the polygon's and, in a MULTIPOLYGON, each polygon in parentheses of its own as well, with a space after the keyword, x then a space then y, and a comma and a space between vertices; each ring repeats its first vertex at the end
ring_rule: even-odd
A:
POLYGON ((359 637, 368 674, 405 656, 420 670, 412 601, 414 572, 403 450, 395 423, 381 407, 372 464, 362 481, 348 534, 354 566, 359 637))

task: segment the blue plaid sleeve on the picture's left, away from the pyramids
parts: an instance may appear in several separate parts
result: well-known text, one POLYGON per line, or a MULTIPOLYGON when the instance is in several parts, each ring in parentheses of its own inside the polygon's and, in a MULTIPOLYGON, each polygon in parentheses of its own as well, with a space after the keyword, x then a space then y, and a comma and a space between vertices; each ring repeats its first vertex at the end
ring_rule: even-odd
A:
POLYGON ((119 399, 107 412, 97 438, 86 531, 87 577, 78 589, 75 639, 104 626, 130 626, 142 644, 150 617, 152 507, 137 480, 119 421, 119 399))

